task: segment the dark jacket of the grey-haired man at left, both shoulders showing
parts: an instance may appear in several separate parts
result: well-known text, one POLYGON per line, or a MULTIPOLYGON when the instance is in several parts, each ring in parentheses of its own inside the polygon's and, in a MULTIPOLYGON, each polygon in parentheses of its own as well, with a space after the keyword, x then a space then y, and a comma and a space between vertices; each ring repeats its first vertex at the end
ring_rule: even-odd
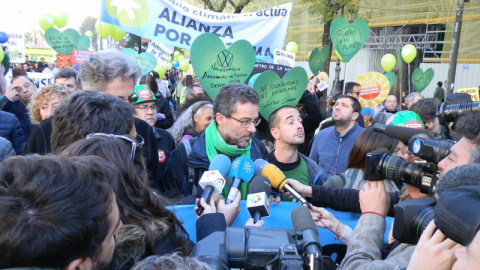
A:
MULTIPOLYGON (((25 145, 24 154, 44 155, 52 151, 50 145, 52 121, 53 117, 45 119, 34 126, 32 134, 28 137, 27 144, 25 145)), ((137 133, 145 140, 142 151, 147 162, 150 179, 157 179, 158 154, 153 129, 147 122, 137 118, 135 118, 135 128, 137 129, 137 133)))

